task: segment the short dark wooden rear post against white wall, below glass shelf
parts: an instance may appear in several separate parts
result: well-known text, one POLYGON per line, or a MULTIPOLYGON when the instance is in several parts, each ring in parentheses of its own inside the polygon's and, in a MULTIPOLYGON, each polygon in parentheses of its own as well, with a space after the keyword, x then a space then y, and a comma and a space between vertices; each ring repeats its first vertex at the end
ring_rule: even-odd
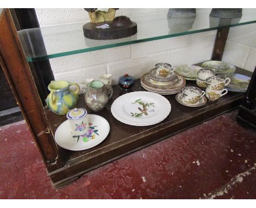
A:
POLYGON ((226 39, 228 39, 229 27, 221 28, 217 30, 213 51, 212 51, 212 60, 222 60, 224 53, 226 39))

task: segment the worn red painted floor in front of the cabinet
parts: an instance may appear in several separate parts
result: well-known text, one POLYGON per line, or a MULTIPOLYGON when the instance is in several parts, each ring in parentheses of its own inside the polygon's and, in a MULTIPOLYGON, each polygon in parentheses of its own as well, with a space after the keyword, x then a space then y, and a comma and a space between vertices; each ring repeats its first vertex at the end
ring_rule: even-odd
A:
POLYGON ((83 175, 60 189, 25 121, 0 127, 1 199, 255 199, 256 132, 233 111, 83 175))

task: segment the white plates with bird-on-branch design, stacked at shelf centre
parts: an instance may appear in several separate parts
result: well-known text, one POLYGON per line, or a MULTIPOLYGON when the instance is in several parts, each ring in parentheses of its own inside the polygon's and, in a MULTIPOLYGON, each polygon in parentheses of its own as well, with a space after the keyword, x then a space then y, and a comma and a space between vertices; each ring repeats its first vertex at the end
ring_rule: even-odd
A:
POLYGON ((164 120, 171 112, 171 104, 159 94, 135 91, 118 97, 111 106, 111 112, 123 123, 147 126, 164 120))

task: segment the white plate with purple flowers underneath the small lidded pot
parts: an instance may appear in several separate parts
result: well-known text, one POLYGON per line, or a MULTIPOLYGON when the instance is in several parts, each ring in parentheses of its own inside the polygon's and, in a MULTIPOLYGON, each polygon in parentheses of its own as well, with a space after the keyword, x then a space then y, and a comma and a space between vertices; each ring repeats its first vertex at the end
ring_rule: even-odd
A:
POLYGON ((100 115, 88 114, 89 131, 83 136, 72 133, 69 121, 64 121, 55 132, 56 143, 67 150, 86 150, 100 144, 108 136, 110 127, 100 115))

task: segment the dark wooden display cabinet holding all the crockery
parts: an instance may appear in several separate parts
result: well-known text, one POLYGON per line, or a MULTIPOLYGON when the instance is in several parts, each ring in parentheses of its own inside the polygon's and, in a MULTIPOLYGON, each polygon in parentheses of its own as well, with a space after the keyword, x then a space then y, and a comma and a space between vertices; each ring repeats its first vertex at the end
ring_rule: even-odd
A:
MULTIPOLYGON (((253 22, 256 21, 251 21, 251 23, 253 22)), ((66 120, 66 117, 52 113, 43 105, 9 9, 2 10, 0 28, 0 61, 2 68, 42 155, 48 175, 57 188, 72 182, 92 169, 235 109, 241 105, 245 98, 245 93, 229 92, 216 102, 207 102, 205 106, 189 108, 180 105, 175 100, 175 95, 167 95, 165 97, 170 101, 172 109, 170 115, 164 121, 152 126, 130 126, 115 119, 110 112, 113 101, 125 93, 118 85, 115 85, 113 86, 114 94, 106 109, 94 113, 108 120, 110 124, 108 137, 94 148, 83 151, 69 151, 58 146, 54 139, 57 127, 66 120)), ((229 26, 213 29, 218 29, 218 31, 212 60, 221 60, 229 26)), ((203 31, 206 30, 201 32, 203 31)), ((137 42, 143 42, 143 40, 130 44, 137 42)), ((252 74, 240 68, 237 68, 236 72, 248 76, 252 74)), ((254 81, 251 83, 250 89, 255 89, 255 79, 254 72, 254 81)), ((195 82, 188 81, 187 84, 195 85, 195 82)), ((132 91, 139 90, 144 89, 141 87, 139 80, 136 80, 132 91)), ((83 95, 79 96, 78 107, 86 108, 89 113, 92 113, 85 105, 83 95)))

